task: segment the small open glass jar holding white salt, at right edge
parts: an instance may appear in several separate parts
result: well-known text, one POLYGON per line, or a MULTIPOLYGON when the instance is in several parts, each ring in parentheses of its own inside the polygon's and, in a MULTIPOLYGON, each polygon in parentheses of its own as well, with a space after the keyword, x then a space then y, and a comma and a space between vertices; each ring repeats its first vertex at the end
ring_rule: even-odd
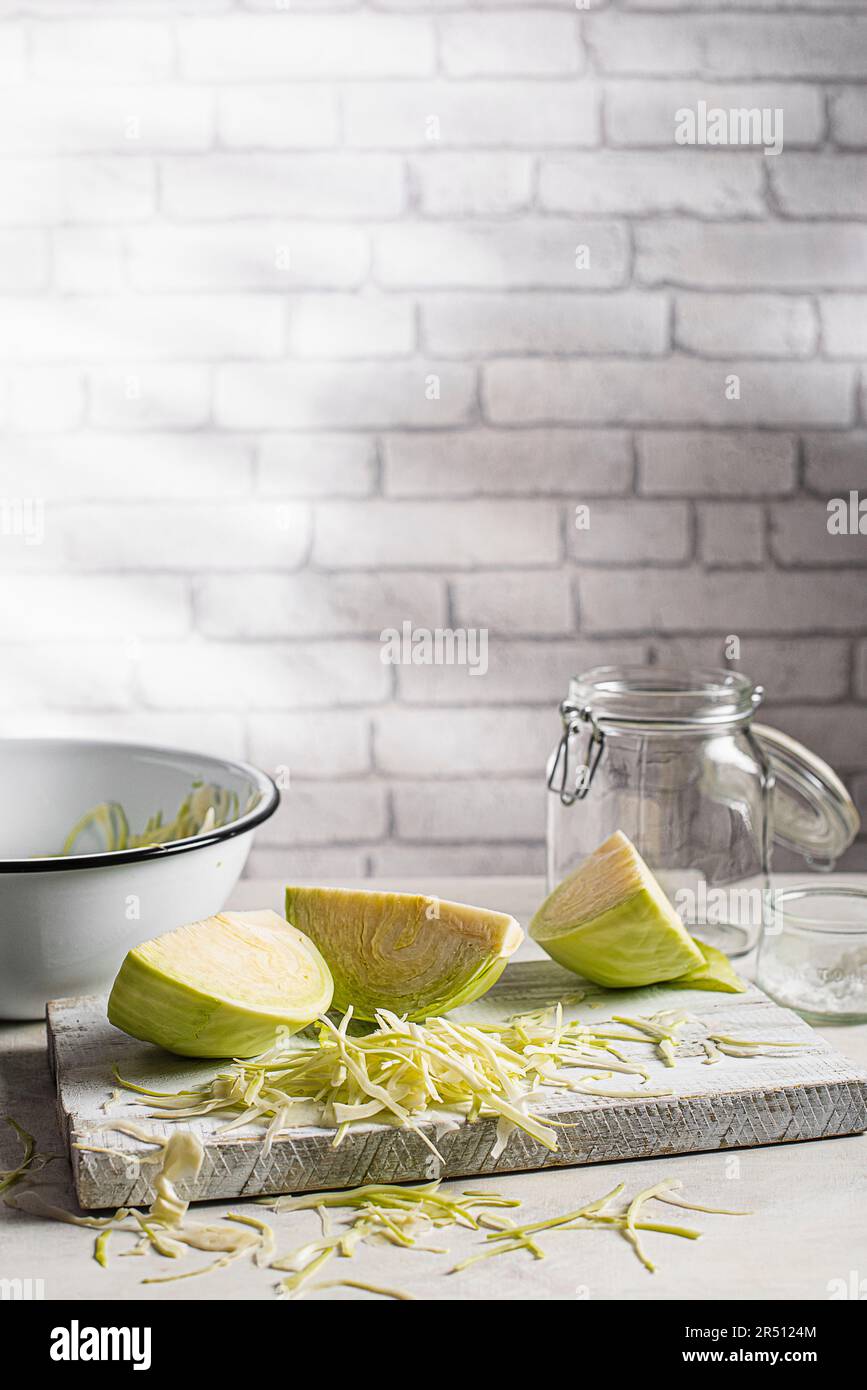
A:
POLYGON ((867 1023, 867 888, 779 890, 759 948, 757 983, 810 1023, 867 1023))

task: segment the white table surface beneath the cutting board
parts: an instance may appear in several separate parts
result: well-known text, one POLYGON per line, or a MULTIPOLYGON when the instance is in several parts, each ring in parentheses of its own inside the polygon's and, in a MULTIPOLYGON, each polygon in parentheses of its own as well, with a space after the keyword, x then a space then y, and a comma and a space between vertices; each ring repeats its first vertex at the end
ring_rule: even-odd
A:
MULTIPOLYGON (((867 881, 867 874, 839 876, 838 881, 867 881)), ((352 885, 346 883, 345 885, 352 885)), ((509 910, 527 922, 542 897, 538 878, 452 878, 404 880, 357 887, 389 887, 429 895, 477 902, 509 910)), ((242 881, 231 906, 281 908, 282 884, 242 881)), ((538 948, 529 942, 522 958, 538 948)), ((750 973, 749 962, 739 962, 750 973)), ((867 1070, 867 1026, 820 1029, 838 1051, 867 1070)), ((54 1112, 54 1091, 49 1076, 44 1029, 40 1023, 0 1024, 0 1113, 14 1115, 38 1138, 39 1150, 61 1151, 54 1112)), ((0 1127, 0 1169, 17 1161, 17 1140, 0 1127)), ((571 1232, 549 1236, 547 1257, 534 1261, 515 1252, 484 1261, 467 1272, 446 1276, 460 1255, 478 1248, 471 1233, 445 1230, 449 1255, 428 1255, 390 1247, 363 1247, 352 1261, 332 1262, 322 1279, 349 1276, 377 1284, 404 1289, 417 1298, 810 1298, 825 1300, 843 1284, 867 1282, 867 1138, 834 1138, 821 1143, 782 1144, 767 1148, 717 1154, 677 1155, 663 1159, 606 1163, 592 1168, 549 1169, 538 1173, 506 1175, 484 1186, 522 1202, 521 1218, 539 1220, 554 1216, 602 1195, 624 1182, 629 1194, 659 1182, 679 1177, 684 1195, 716 1207, 749 1209, 748 1218, 675 1212, 672 1220, 699 1226, 700 1241, 668 1236, 647 1236, 646 1243, 659 1262, 656 1275, 635 1259, 627 1241, 610 1232, 571 1232)), ((63 1161, 49 1165, 39 1182, 50 1183, 43 1195, 76 1209, 68 1169, 63 1161)), ((21 1188, 18 1188, 21 1191, 21 1188)), ((251 1204, 208 1204, 218 1219, 231 1209, 251 1204)), ((660 1208, 663 1211, 664 1208, 660 1208)), ((201 1211, 201 1209, 199 1209, 201 1211)), ((258 1209, 260 1215, 263 1213, 258 1209)), ((271 1218, 268 1218, 271 1219, 271 1218)), ((278 1248, 288 1252, 318 1233, 313 1213, 283 1213, 274 1218, 278 1248)), ((128 1240, 117 1237, 115 1251, 128 1240)), ((167 1261, 113 1258, 101 1269, 92 1258, 93 1233, 74 1226, 11 1211, 0 1205, 0 1279, 42 1279, 46 1298, 118 1298, 158 1301, 189 1300, 272 1301, 275 1273, 238 1262, 204 1279, 181 1284, 142 1286, 142 1277, 165 1272, 167 1261), (158 1268, 157 1268, 158 1266, 158 1268)), ((200 1257, 188 1257, 189 1268, 200 1257)), ((188 1261, 183 1262, 185 1268, 188 1261)), ((201 1257, 207 1264, 207 1257, 201 1257)), ((315 1282, 315 1280, 314 1280, 315 1282)), ((867 1293, 863 1286, 861 1297, 867 1293)), ((839 1295, 839 1294, 838 1294, 839 1295)), ((307 1294, 307 1298, 365 1298, 349 1289, 307 1294)), ((849 1293, 852 1297, 852 1293, 849 1293)))

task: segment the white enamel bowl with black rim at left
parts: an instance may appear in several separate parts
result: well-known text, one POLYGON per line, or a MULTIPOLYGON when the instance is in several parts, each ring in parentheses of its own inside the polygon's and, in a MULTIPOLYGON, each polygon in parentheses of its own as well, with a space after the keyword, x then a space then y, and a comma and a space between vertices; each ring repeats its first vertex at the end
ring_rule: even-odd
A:
POLYGON ((256 827, 279 803, 256 767, 171 748, 8 738, 0 739, 0 1019, 42 1017, 47 999, 106 991, 131 947, 220 912, 256 827), (258 801, 189 840, 33 858, 57 855, 103 801, 124 806, 133 833, 157 810, 171 819, 197 780, 236 792, 240 806, 251 792, 258 801))

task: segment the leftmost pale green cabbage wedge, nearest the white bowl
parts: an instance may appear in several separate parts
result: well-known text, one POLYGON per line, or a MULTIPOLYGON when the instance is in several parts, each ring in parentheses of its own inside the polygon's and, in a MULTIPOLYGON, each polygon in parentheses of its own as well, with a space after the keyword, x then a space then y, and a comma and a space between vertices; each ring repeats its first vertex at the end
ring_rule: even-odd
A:
POLYGON ((256 1056, 331 1005, 315 945, 276 912, 221 912, 129 951, 108 1019, 181 1056, 256 1056))

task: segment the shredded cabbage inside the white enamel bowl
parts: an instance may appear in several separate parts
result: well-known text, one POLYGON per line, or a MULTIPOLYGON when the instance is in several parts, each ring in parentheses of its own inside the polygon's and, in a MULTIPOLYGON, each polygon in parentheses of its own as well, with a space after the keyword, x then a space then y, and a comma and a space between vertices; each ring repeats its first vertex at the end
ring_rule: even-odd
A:
MULTIPOLYGON (((247 796, 243 815, 253 810, 260 799, 254 791, 247 796)), ((132 834, 126 812, 118 801, 103 801, 78 820, 64 840, 61 856, 75 855, 75 844, 86 830, 94 828, 101 838, 101 852, 114 853, 118 849, 143 849, 149 845, 165 845, 174 840, 189 840, 206 834, 220 826, 228 826, 242 815, 238 792, 226 791, 214 783, 193 783, 183 798, 174 820, 163 821, 163 812, 151 816, 140 834, 132 834)), ((79 853, 89 853, 82 849, 79 853)))

